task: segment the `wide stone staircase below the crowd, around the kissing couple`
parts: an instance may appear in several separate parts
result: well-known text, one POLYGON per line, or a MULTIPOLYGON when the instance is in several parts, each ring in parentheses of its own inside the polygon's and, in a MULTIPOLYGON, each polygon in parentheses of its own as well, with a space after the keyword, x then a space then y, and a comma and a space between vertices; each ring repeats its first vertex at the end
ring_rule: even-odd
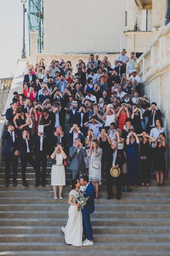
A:
MULTIPOLYGON (((163 188, 157 188, 153 178, 149 188, 122 192, 121 200, 107 200, 106 186, 100 188, 100 199, 95 199, 95 211, 91 215, 94 245, 72 247, 65 244, 61 231, 68 219, 70 187, 64 187, 64 199, 54 200, 50 175, 46 187, 35 188, 34 171, 28 165, 29 187, 23 187, 19 164, 17 187, 12 181, 5 187, 4 171, 2 160, 0 255, 170 256, 169 180, 165 180, 163 188)), ((71 176, 67 172, 69 180, 71 176)))

